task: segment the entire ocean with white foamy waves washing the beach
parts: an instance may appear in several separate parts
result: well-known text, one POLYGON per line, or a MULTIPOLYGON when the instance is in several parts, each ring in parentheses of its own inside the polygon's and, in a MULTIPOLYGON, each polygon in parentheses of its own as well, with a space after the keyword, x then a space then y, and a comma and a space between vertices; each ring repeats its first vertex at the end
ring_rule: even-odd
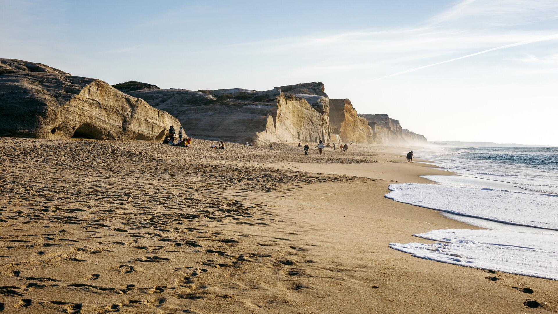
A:
POLYGON ((458 175, 392 184, 387 198, 431 208, 487 230, 432 230, 434 244, 390 243, 413 256, 558 280, 558 148, 447 147, 417 158, 458 175))

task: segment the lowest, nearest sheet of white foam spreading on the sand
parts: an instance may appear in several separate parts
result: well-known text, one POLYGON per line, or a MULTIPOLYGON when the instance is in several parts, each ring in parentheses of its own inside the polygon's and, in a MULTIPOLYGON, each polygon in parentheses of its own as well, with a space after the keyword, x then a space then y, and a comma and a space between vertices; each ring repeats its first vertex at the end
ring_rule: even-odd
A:
POLYGON ((556 235, 450 229, 413 236, 440 242, 390 243, 389 247, 442 263, 558 280, 556 235))

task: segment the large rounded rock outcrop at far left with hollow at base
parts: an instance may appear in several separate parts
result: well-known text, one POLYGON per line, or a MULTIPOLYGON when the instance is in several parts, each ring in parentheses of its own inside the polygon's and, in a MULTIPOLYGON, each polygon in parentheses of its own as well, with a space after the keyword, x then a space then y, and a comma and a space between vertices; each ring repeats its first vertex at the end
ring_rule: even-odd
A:
POLYGON ((180 122, 102 80, 0 59, 0 136, 153 140, 170 125, 180 122))

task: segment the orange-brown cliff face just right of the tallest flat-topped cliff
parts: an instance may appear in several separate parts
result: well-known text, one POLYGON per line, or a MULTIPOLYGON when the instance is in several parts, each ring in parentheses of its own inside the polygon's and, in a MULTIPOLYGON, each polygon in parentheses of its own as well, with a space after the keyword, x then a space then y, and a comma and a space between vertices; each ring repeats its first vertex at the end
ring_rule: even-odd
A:
POLYGON ((349 99, 329 99, 329 127, 333 142, 376 142, 368 121, 358 116, 349 99))

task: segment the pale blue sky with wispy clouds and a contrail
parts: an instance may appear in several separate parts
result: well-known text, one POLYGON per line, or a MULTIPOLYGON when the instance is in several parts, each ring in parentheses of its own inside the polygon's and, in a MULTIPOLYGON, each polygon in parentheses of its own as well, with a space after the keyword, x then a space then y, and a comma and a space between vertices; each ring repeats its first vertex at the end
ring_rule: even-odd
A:
POLYGON ((388 113, 430 140, 558 145, 555 0, 0 0, 0 7, 8 12, 1 58, 161 88, 324 82, 331 98, 351 99, 360 113, 388 113))

